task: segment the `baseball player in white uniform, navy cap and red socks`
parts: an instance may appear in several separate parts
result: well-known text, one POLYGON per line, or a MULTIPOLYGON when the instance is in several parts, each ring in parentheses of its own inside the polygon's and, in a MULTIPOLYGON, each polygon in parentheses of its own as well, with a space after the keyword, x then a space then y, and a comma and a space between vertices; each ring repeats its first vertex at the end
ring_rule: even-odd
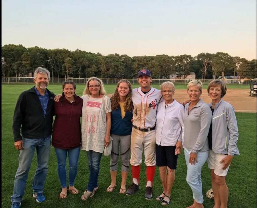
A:
POLYGON ((147 69, 138 72, 137 81, 140 87, 132 90, 134 110, 130 164, 133 184, 127 190, 126 195, 130 196, 139 190, 140 164, 144 151, 144 163, 146 165, 145 199, 150 200, 153 197, 152 184, 155 172, 156 109, 161 98, 161 92, 150 86, 152 78, 150 71, 147 69))

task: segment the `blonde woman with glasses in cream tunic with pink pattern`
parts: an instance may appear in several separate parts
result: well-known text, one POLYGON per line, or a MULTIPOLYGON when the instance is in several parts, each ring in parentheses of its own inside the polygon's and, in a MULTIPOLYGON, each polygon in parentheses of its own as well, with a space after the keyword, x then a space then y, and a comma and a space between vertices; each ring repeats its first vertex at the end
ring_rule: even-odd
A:
POLYGON ((105 96, 103 82, 97 77, 91 77, 83 92, 81 150, 86 150, 89 167, 89 182, 87 190, 81 199, 93 197, 98 189, 98 173, 104 147, 110 143, 111 131, 111 100, 105 96))

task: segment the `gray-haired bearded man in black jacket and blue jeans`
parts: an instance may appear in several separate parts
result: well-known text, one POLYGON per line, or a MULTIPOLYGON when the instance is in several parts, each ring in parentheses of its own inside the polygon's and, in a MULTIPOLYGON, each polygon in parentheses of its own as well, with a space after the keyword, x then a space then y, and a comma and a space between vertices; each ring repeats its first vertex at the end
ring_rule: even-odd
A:
POLYGON ((17 100, 13 115, 14 146, 20 150, 11 208, 19 208, 24 195, 26 179, 36 149, 37 168, 32 189, 38 203, 45 201, 43 187, 48 172, 48 160, 53 128, 53 98, 47 89, 50 73, 47 69, 37 68, 34 73, 36 86, 22 92, 17 100))

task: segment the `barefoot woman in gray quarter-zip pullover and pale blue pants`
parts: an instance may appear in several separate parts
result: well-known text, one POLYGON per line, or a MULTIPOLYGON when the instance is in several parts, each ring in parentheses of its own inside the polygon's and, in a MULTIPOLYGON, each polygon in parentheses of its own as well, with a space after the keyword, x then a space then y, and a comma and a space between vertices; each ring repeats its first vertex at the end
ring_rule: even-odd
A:
POLYGON ((208 158, 208 131, 212 119, 210 107, 200 99, 203 84, 192 80, 187 85, 190 102, 186 104, 184 152, 187 163, 187 183, 192 189, 194 203, 187 208, 202 208, 201 169, 208 158))

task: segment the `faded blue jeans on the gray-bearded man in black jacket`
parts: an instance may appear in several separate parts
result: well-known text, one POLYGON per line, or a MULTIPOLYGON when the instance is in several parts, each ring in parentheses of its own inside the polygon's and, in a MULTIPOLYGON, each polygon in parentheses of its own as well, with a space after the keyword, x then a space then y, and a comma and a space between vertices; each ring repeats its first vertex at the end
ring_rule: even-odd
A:
POLYGON ((41 139, 22 138, 22 141, 24 149, 20 150, 19 167, 14 178, 13 195, 11 196, 12 203, 21 202, 22 200, 35 149, 38 166, 32 183, 33 193, 43 193, 45 178, 48 172, 51 136, 41 139))

